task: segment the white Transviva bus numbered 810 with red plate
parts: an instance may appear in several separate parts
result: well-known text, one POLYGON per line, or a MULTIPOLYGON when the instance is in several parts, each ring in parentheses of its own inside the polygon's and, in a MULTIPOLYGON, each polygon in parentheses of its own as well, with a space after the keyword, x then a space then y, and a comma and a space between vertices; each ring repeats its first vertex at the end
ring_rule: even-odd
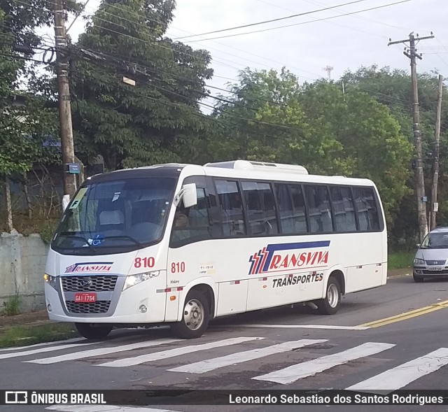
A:
POLYGON ((384 211, 371 180, 237 160, 88 178, 45 267, 50 319, 87 339, 167 323, 184 339, 218 316, 386 283, 384 211))

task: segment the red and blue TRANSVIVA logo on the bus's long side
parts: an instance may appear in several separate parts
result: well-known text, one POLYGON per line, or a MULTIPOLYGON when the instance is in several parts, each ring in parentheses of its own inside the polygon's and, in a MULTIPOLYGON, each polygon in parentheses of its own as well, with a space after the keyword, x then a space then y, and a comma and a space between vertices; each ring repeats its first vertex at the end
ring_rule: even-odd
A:
POLYGON ((328 250, 323 250, 323 248, 328 248, 328 246, 330 246, 330 241, 267 245, 249 257, 251 263, 249 275, 325 266, 328 264, 328 250))

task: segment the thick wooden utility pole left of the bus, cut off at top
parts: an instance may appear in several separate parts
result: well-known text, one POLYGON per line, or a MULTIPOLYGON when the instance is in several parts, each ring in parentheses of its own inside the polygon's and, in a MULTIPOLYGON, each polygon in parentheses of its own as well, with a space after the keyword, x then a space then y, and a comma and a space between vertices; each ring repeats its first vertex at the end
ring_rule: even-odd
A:
POLYGON ((69 164, 75 163, 73 148, 73 128, 71 125, 71 106, 69 89, 68 42, 64 24, 64 0, 54 0, 56 75, 59 94, 59 124, 61 136, 62 164, 64 176, 64 201, 76 192, 76 172, 70 171, 69 164))

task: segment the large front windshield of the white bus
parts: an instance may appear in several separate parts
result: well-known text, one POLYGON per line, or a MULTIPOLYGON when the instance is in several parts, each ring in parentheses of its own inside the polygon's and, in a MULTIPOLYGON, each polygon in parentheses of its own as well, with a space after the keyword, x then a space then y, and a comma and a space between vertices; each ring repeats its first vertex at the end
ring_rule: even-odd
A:
POLYGON ((128 178, 88 183, 62 217, 52 248, 63 254, 128 252, 162 238, 174 178, 128 178))

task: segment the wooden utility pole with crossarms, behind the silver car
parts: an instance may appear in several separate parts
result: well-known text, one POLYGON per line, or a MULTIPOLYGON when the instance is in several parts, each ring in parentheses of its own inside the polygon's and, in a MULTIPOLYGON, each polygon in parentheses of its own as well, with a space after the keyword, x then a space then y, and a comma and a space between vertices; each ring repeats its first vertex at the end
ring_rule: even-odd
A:
POLYGON ((419 37, 417 34, 414 36, 414 31, 409 34, 409 40, 390 41, 388 45, 398 43, 409 43, 409 48, 405 48, 403 54, 409 57, 411 61, 411 81, 412 81, 412 118, 414 125, 414 146, 415 146, 415 178, 416 178, 416 196, 417 196, 417 209, 419 216, 419 234, 420 241, 428 234, 428 218, 426 218, 426 201, 425 196, 425 180, 423 176, 423 152, 421 149, 421 133, 420 133, 420 111, 419 111, 419 90, 417 88, 417 70, 416 59, 421 59, 421 55, 417 54, 415 48, 415 42, 426 40, 427 38, 434 38, 431 32, 430 36, 419 37))

